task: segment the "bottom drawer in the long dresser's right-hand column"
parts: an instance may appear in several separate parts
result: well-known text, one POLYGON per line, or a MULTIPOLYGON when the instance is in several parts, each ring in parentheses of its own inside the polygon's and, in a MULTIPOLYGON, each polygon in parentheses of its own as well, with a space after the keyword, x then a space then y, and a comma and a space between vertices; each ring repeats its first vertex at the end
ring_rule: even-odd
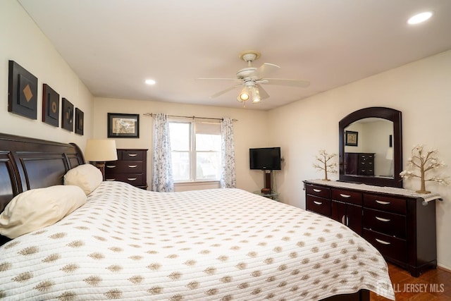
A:
POLYGON ((407 262, 407 242, 400 238, 384 235, 376 231, 364 229, 363 238, 368 240, 376 249, 381 252, 383 257, 395 259, 398 262, 407 262))

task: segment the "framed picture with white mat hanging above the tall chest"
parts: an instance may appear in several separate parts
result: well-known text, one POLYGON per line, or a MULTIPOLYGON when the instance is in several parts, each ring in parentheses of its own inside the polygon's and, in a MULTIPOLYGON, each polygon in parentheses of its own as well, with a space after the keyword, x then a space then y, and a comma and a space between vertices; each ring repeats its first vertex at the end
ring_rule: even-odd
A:
POLYGON ((139 138, 140 114, 108 113, 109 138, 139 138))

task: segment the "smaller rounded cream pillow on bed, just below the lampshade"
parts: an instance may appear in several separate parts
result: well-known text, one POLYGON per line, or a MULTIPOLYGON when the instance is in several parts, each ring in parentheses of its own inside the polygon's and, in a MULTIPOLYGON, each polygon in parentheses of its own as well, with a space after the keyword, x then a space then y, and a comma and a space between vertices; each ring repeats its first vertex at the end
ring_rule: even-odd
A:
POLYGON ((64 185, 76 185, 80 187, 86 195, 96 189, 104 180, 99 168, 92 164, 83 164, 70 169, 64 175, 64 185))

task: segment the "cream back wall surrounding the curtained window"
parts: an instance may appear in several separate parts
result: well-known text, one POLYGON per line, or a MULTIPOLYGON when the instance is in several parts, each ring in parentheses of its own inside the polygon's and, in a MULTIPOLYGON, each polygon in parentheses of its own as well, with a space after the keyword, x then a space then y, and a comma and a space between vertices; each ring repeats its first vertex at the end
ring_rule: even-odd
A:
MULTIPOLYGON (((231 99, 230 101, 233 101, 231 99)), ((236 102, 236 100, 235 100, 236 102)), ((152 125, 153 119, 143 113, 167 113, 177 116, 198 116, 209 118, 230 117, 237 119, 233 123, 235 141, 235 170, 237 188, 248 191, 260 190, 264 187, 263 172, 249 170, 249 148, 267 147, 268 145, 268 113, 266 111, 251 111, 248 109, 230 109, 218 106, 199 106, 152 102, 132 99, 94 99, 94 137, 107 137, 108 113, 139 113, 140 138, 116 138, 118 148, 149 149, 147 156, 147 185, 152 183, 152 125)), ((215 185, 178 185, 176 191, 218 188, 215 185)))

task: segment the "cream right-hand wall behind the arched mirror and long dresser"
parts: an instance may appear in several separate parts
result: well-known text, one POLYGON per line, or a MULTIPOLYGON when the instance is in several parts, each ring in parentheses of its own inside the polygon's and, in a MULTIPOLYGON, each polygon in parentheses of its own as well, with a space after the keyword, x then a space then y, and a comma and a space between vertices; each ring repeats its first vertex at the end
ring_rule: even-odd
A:
MULTIPOLYGON (((338 122, 369 106, 402 111, 404 168, 416 144, 437 148, 439 158, 450 163, 450 82, 451 51, 446 51, 270 111, 271 142, 287 150, 285 168, 278 177, 283 200, 305 207, 302 180, 322 178, 312 166, 318 149, 338 154, 338 122)), ((450 167, 441 171, 451 176, 450 167)), ((338 179, 338 175, 329 178, 338 179)), ((404 180, 404 188, 418 190, 419 180, 404 180)), ((436 205, 438 263, 451 269, 450 186, 428 182, 426 188, 443 197, 436 205)))

